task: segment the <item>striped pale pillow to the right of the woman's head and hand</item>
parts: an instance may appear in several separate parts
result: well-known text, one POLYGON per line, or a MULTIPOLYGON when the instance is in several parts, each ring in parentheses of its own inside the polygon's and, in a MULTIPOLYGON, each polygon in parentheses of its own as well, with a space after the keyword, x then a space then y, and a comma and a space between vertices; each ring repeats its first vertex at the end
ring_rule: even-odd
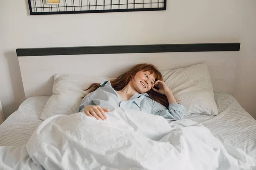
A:
POLYGON ((161 74, 163 81, 172 90, 175 98, 187 108, 185 115, 218 114, 210 73, 206 64, 161 71, 161 74))

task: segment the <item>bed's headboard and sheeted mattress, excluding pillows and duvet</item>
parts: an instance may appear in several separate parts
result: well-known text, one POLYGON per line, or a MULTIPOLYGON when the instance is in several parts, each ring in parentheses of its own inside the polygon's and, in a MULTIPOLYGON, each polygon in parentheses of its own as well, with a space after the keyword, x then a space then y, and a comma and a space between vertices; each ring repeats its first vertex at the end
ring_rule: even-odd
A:
POLYGON ((186 48, 181 47, 182 45, 176 45, 175 48, 168 45, 160 50, 161 45, 145 45, 144 51, 138 51, 142 47, 140 45, 132 46, 133 48, 115 46, 115 52, 108 47, 91 50, 88 47, 78 48, 81 49, 79 52, 74 52, 73 48, 61 48, 64 53, 59 48, 17 49, 27 99, 0 126, 0 146, 22 146, 29 141, 34 130, 43 122, 39 118, 52 95, 55 73, 78 74, 83 71, 92 76, 116 77, 119 72, 136 63, 150 62, 160 70, 168 70, 204 62, 211 75, 218 115, 190 114, 184 118, 201 123, 221 142, 241 148, 256 159, 256 120, 232 96, 238 57, 236 51, 239 51, 237 43, 221 43, 217 47, 216 44, 207 44, 207 49, 204 45, 185 45, 186 48), (158 48, 154 48, 157 46, 158 48))

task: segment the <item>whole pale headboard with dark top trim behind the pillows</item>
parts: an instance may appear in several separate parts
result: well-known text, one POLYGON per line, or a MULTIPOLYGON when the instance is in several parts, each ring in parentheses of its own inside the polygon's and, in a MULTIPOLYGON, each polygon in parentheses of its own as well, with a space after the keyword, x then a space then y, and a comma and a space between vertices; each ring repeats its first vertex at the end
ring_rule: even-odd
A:
POLYGON ((233 94, 240 43, 16 49, 26 98, 51 95, 56 73, 117 77, 138 63, 170 70, 206 63, 215 92, 233 94), (79 55, 77 55, 79 54, 79 55))

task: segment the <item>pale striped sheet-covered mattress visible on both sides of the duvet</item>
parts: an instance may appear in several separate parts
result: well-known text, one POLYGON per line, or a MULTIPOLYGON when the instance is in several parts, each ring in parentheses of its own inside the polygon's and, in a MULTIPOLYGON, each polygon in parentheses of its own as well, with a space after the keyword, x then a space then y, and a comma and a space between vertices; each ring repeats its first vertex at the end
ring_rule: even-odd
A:
MULTIPOLYGON (((256 120, 244 111, 230 94, 215 93, 217 116, 193 114, 185 116, 201 122, 212 134, 226 144, 241 148, 256 158, 256 120)), ((34 130, 41 124, 39 119, 50 96, 35 96, 26 99, 0 125, 0 146, 21 146, 27 143, 34 130)))

